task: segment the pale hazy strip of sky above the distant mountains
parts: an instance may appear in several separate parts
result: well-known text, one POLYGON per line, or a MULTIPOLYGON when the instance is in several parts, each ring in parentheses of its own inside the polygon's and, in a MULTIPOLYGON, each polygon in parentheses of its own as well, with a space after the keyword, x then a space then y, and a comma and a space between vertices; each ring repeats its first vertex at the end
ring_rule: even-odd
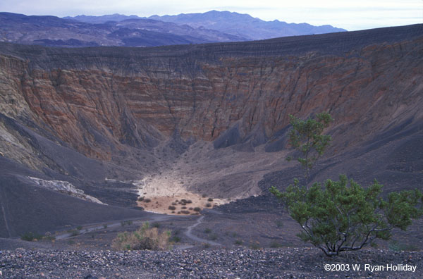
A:
POLYGON ((28 16, 163 16, 210 10, 287 23, 330 24, 347 30, 423 23, 423 0, 0 0, 0 11, 28 16))

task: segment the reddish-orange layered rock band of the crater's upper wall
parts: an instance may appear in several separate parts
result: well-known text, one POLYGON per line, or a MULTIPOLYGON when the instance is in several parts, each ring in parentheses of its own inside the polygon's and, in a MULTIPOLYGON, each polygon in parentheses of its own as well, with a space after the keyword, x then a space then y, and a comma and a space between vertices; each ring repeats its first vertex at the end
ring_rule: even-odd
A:
POLYGON ((8 116, 35 119, 100 159, 111 159, 123 144, 154 145, 175 130, 185 139, 216 140, 238 123, 241 138, 257 137, 258 130, 269 139, 286 127, 289 114, 319 111, 336 119, 339 149, 422 118, 422 44, 376 44, 347 56, 199 61, 195 75, 166 65, 131 75, 102 68, 41 70, 1 56, 1 105, 8 116))

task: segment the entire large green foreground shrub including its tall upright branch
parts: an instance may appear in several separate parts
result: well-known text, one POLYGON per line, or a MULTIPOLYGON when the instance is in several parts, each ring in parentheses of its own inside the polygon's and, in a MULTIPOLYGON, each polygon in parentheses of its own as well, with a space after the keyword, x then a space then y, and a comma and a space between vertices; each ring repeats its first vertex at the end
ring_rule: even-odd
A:
MULTIPOLYGON (((329 113, 318 113, 316 118, 301 120, 290 116, 293 126, 289 142, 297 149, 297 160, 305 171, 305 185, 295 178, 284 192, 271 187, 270 192, 280 198, 290 216, 300 224, 298 235, 321 249, 326 256, 343 251, 362 249, 374 240, 388 240, 393 228, 405 230, 412 219, 423 214, 419 190, 391 192, 387 199, 380 197, 381 187, 376 180, 363 189, 345 175, 339 181, 326 180, 324 186, 314 182, 308 187, 309 174, 315 161, 323 155, 331 142, 330 135, 322 135, 333 119, 329 113)), ((290 157, 287 158, 291 160, 290 157)))

